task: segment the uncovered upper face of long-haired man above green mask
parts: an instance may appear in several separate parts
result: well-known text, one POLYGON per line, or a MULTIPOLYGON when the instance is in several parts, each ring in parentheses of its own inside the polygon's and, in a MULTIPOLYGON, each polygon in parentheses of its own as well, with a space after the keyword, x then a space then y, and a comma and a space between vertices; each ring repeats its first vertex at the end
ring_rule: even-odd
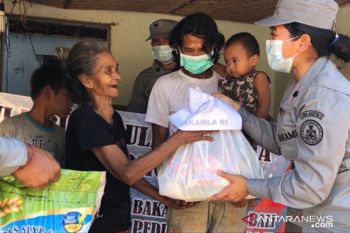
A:
MULTIPOLYGON (((193 36, 191 34, 183 35, 183 42, 181 46, 181 53, 189 56, 201 56, 204 54, 207 54, 205 50, 203 49, 203 44, 205 42, 205 39, 198 38, 196 36, 193 36)), ((210 51, 211 48, 207 48, 207 51, 210 51)))

